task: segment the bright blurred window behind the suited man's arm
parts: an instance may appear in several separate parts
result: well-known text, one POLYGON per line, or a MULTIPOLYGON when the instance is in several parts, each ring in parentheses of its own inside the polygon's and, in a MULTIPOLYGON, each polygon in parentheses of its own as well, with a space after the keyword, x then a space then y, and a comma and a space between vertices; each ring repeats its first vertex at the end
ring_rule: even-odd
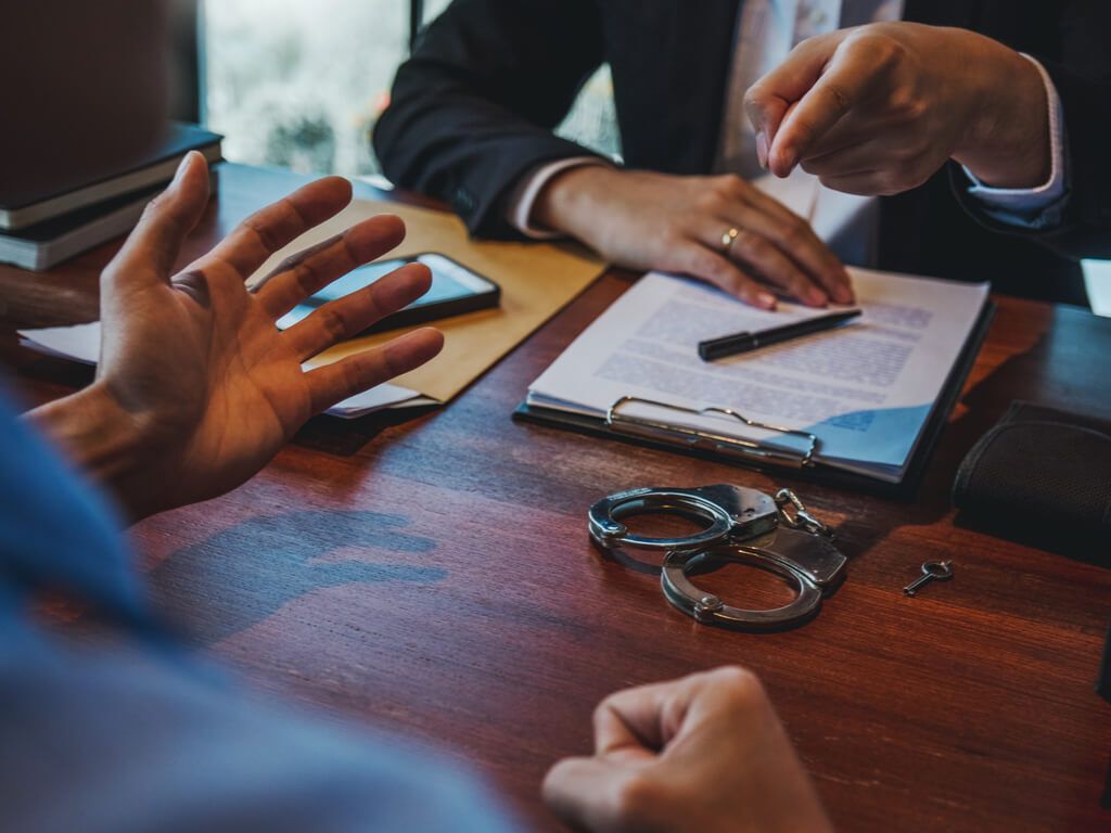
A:
MULTIPOLYGON (((228 159, 299 173, 379 172, 370 131, 409 49, 410 12, 450 0, 219 0, 202 14, 204 110, 228 159)), ((617 153, 609 72, 560 133, 617 153)))

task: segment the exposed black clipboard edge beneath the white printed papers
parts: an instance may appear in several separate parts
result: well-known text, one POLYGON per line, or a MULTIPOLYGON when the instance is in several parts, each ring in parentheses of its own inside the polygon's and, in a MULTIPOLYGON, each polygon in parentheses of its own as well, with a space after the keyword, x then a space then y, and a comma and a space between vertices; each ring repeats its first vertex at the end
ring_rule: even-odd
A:
POLYGON ((634 443, 637 445, 645 445, 661 451, 688 454, 690 456, 712 460, 714 462, 731 463, 745 469, 755 469, 757 471, 799 478, 801 480, 809 480, 815 483, 842 486, 845 489, 853 489, 857 491, 870 492, 901 500, 911 500, 917 494, 918 488, 921 485, 922 478, 925 474, 925 468, 929 464, 930 458, 933 455, 933 450, 938 444, 941 432, 945 428, 949 414, 952 413, 958 399, 960 399, 961 391, 964 388, 964 382, 968 380, 969 373, 972 371, 972 365, 975 363, 977 357, 980 354, 980 348, 983 345, 983 341, 988 337, 988 330, 991 329, 991 322, 994 317, 995 304, 989 300, 984 303, 983 309, 980 311, 980 315, 977 319, 975 324, 972 327, 972 331, 969 334, 968 341, 965 341, 957 362, 949 371, 949 377, 945 379, 945 383, 941 389, 941 394, 934 402, 933 410, 930 412, 929 418, 927 418, 925 425, 922 429, 922 435, 919 439, 918 446, 914 449, 914 454, 911 458, 910 464, 907 466, 903 479, 898 483, 889 483, 883 480, 870 478, 865 474, 844 471, 830 465, 823 465, 820 461, 815 461, 803 468, 780 465, 765 460, 744 456, 742 454, 727 455, 719 451, 699 448, 692 444, 669 442, 662 439, 653 439, 640 434, 614 431, 607 425, 603 418, 585 416, 583 414, 569 413, 567 411, 560 411, 551 408, 530 405, 527 400, 521 402, 513 410, 513 420, 552 428, 561 428, 581 434, 601 436, 610 440, 618 440, 620 442, 634 443))

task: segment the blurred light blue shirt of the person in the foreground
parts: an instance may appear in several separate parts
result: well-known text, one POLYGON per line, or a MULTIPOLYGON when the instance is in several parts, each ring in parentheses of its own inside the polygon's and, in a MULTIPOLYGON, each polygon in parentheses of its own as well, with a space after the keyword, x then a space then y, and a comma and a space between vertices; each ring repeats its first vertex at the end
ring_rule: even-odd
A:
POLYGON ((0 830, 508 833, 472 775, 282 711, 159 629, 108 503, 0 392, 0 830), (112 639, 36 621, 44 589, 112 639))

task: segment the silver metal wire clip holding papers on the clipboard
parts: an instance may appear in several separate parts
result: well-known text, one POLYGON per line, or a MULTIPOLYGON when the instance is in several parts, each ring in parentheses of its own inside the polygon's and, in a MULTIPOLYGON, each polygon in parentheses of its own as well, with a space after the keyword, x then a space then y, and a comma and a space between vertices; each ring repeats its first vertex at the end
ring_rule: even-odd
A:
POLYGON ((645 436, 649 439, 662 440, 668 443, 682 442, 691 446, 710 449, 722 454, 739 456, 743 459, 754 459, 763 462, 785 465, 792 469, 803 469, 814 464, 814 453, 818 451, 819 440, 814 434, 800 431, 793 428, 781 425, 769 425, 764 422, 750 420, 748 416, 739 414, 729 408, 683 408, 668 402, 658 402, 640 397, 621 397, 605 412, 605 426, 611 431, 645 436), (800 451, 780 449, 754 440, 744 440, 739 436, 728 436, 725 434, 705 431, 702 429, 678 425, 669 422, 661 422, 648 416, 628 413, 630 405, 648 405, 659 408, 675 413, 689 414, 692 416, 725 416, 737 420, 747 428, 754 428, 761 431, 773 431, 780 434, 797 436, 805 442, 805 446, 800 451))

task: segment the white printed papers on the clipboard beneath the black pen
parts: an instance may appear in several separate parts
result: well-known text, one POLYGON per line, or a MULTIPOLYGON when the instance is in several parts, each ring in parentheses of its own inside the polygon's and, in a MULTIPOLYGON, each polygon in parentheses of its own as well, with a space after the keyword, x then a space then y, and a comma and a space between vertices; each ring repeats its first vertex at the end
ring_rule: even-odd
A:
MULTIPOLYGON (((899 482, 989 284, 851 269, 863 315, 837 330, 715 362, 699 341, 822 315, 747 307, 683 278, 651 273, 618 299, 529 389, 530 405, 602 418, 622 397, 722 408, 819 438, 817 459, 899 482)), ((652 419, 669 419, 655 412, 652 419)), ((724 415, 673 424, 799 450, 798 440, 724 415)))

